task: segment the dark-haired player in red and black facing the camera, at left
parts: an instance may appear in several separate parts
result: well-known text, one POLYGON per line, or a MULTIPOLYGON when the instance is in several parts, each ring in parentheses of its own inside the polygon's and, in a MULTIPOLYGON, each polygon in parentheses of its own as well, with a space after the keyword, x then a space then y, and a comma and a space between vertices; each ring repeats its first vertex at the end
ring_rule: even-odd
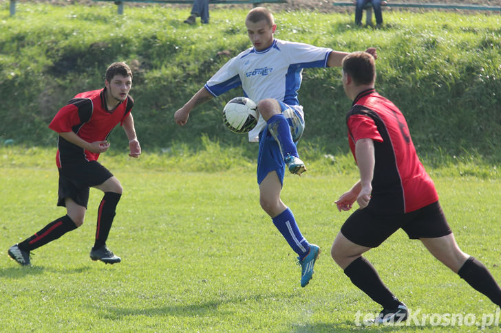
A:
POLYGON ((92 260, 106 264, 120 262, 107 246, 109 230, 122 185, 97 160, 110 143, 107 137, 120 124, 129 139, 131 157, 139 157, 141 147, 136 137, 129 96, 132 72, 125 62, 114 62, 106 70, 105 88, 79 93, 63 106, 49 128, 58 133, 56 164, 59 172, 58 206, 66 207, 66 215, 50 222, 43 229, 19 244, 10 246, 8 254, 23 266, 31 265, 30 252, 56 240, 83 224, 89 189, 104 192, 98 208, 96 240, 90 251, 92 260))

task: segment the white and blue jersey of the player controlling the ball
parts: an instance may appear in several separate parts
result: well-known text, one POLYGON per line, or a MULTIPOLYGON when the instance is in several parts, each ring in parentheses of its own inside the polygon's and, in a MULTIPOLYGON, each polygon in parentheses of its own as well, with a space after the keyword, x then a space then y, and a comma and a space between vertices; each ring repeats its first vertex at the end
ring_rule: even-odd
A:
MULTIPOLYGON (((246 49, 221 67, 204 85, 215 97, 242 86, 244 95, 254 102, 274 98, 287 105, 299 105, 297 91, 301 87, 303 68, 327 67, 332 49, 303 43, 273 40, 262 51, 246 49)), ((257 141, 266 121, 259 117, 248 133, 249 141, 257 141)))

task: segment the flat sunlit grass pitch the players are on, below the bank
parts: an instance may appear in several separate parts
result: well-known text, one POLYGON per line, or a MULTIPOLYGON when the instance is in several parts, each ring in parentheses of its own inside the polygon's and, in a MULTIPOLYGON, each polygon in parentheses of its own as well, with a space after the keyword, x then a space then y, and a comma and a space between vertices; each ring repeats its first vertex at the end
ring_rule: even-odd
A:
MULTIPOLYGON (((138 161, 103 155, 125 188, 108 241, 122 263, 89 259, 101 198, 92 190, 85 224, 34 251, 34 266, 23 268, 9 260, 8 247, 65 214, 55 205, 54 150, 27 151, 0 148, 1 332, 469 332, 495 319, 487 297, 398 231, 367 258, 418 316, 398 328, 356 325, 380 308, 330 258, 348 217, 333 201, 356 180, 354 172, 313 168, 286 176, 283 199, 323 250, 306 288, 295 253, 259 207, 251 163, 172 172, 149 165, 147 154, 138 161), (462 321, 447 324, 452 316, 462 321)), ((434 179, 462 250, 500 281, 499 177, 434 179)))

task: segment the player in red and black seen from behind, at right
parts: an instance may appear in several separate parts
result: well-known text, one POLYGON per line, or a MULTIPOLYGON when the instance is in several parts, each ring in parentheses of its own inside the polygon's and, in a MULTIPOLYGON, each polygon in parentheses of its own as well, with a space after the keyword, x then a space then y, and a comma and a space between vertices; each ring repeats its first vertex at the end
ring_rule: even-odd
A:
POLYGON ((354 211, 332 244, 334 261, 352 283, 383 310, 375 323, 407 319, 399 301, 362 255, 398 229, 418 239, 440 262, 501 306, 501 289, 480 261, 459 249, 438 203, 431 178, 420 163, 400 110, 374 90, 374 58, 354 52, 343 58, 343 87, 353 100, 346 115, 348 141, 360 180, 337 201, 339 211, 354 211))

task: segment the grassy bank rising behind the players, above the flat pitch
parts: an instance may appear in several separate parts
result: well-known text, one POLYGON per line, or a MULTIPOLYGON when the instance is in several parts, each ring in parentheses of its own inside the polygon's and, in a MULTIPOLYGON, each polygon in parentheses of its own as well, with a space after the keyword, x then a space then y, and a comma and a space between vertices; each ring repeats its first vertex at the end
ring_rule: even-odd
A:
MULTIPOLYGON (((328 3, 325 4, 329 5, 328 3)), ((211 24, 189 26, 186 8, 18 3, 8 16, 0 3, 0 141, 52 146, 47 129, 56 111, 81 91, 103 86, 109 63, 134 71, 134 119, 144 148, 199 144, 206 135, 244 143, 220 112, 239 89, 193 111, 179 128, 174 112, 203 86, 230 54, 250 46, 244 16, 250 5, 211 7, 211 24), (224 51, 224 52, 223 52, 224 51)), ((420 154, 501 161, 501 16, 385 10, 381 30, 357 29, 353 12, 277 12, 277 38, 342 51, 378 48, 378 90, 406 115, 420 154)), ((303 72, 299 100, 306 115, 303 142, 322 154, 346 152, 343 117, 350 108, 339 69, 303 72)), ((116 130, 111 139, 127 138, 116 130)))

